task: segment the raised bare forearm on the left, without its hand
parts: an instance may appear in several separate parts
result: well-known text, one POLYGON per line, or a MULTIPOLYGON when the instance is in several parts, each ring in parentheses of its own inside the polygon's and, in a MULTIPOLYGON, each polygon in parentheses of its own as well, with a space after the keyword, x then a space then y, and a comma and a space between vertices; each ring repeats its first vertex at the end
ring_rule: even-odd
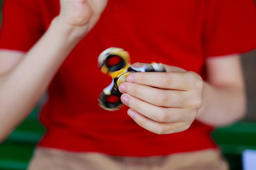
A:
POLYGON ((53 20, 48 31, 14 69, 0 79, 0 140, 36 105, 80 36, 53 20))

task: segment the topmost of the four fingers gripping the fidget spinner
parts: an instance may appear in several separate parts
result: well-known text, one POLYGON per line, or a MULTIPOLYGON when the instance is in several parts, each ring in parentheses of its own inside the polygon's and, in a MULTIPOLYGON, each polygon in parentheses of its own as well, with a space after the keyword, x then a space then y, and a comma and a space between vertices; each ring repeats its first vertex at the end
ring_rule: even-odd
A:
POLYGON ((131 83, 154 86, 161 89, 188 91, 196 84, 201 84, 201 77, 193 72, 137 72, 129 74, 127 81, 131 83))

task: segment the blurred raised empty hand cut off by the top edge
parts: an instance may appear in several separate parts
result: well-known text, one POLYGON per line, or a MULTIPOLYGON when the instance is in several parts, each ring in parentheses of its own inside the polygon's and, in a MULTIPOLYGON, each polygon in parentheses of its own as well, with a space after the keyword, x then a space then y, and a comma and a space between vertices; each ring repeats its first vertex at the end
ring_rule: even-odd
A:
POLYGON ((60 0, 60 22, 88 33, 100 18, 107 0, 60 0))

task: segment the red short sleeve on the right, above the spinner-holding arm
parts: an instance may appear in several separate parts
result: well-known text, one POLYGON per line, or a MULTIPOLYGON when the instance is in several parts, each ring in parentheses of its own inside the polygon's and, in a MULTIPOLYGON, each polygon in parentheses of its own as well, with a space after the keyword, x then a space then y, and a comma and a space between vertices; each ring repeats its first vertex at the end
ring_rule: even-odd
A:
POLYGON ((255 48, 255 1, 208 0, 203 32, 206 57, 240 54, 255 48))

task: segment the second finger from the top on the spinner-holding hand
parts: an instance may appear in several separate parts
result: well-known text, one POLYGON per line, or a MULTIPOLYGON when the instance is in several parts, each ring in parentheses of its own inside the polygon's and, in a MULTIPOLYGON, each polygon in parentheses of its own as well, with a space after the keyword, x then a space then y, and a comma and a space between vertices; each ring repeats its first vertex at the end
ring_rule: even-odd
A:
POLYGON ((188 91, 156 89, 151 86, 124 82, 119 85, 119 91, 151 103, 155 106, 184 108, 190 103, 188 91))

